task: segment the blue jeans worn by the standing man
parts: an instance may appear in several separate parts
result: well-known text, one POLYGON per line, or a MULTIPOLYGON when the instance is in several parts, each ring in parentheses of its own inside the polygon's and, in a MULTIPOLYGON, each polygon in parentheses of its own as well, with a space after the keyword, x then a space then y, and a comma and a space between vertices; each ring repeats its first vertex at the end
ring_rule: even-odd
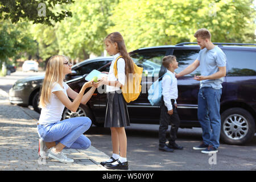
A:
POLYGON ((197 117, 203 130, 204 144, 220 146, 220 98, 222 89, 200 88, 198 93, 197 117))

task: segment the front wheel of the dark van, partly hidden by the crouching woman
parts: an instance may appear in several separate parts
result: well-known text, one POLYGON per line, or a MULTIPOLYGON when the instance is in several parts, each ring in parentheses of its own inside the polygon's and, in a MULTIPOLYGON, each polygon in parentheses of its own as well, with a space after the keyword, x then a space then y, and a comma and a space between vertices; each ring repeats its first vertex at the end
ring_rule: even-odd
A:
POLYGON ((92 114, 92 111, 90 108, 86 105, 80 104, 77 108, 76 112, 73 112, 69 110, 67 107, 65 107, 62 115, 62 120, 69 119, 69 118, 75 118, 75 117, 88 117, 94 123, 94 116, 92 114))

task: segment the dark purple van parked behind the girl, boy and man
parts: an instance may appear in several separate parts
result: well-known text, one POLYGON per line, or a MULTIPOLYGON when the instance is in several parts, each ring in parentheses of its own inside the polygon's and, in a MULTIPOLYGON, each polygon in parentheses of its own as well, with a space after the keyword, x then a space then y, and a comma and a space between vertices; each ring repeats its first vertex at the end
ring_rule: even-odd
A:
MULTIPOLYGON (((196 59, 200 47, 196 43, 181 43, 175 46, 140 48, 130 52, 135 63, 143 67, 142 93, 139 98, 127 104, 131 123, 158 124, 159 106, 151 106, 147 100, 147 90, 156 79, 166 72, 162 58, 175 55, 179 62, 179 73, 196 59), (191 45, 192 44, 192 45, 191 45)), ((256 44, 214 43, 227 57, 227 74, 222 84, 221 96, 221 140, 229 144, 245 144, 255 134, 256 121, 256 44), (225 46, 228 45, 228 46, 225 46)), ((110 62, 112 57, 109 57, 110 62)), ((109 70, 110 63, 98 67, 98 71, 109 70)), ((88 65, 89 66, 89 65, 88 65)), ((199 82, 194 75, 199 75, 197 68, 190 75, 177 79, 179 98, 177 99, 181 128, 200 127, 197 119, 197 93, 199 82)), ((84 84, 84 77, 67 80, 67 84, 79 92, 84 84)), ((103 126, 106 111, 105 86, 97 89, 86 105, 80 105, 76 113, 64 109, 63 119, 88 116, 96 126, 103 126)))

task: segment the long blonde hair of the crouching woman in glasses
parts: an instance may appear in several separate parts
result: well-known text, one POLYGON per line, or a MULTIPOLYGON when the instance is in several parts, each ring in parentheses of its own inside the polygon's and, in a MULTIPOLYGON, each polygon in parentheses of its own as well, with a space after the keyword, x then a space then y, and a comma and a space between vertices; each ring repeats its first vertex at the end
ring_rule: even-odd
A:
POLYGON ((51 90, 54 83, 57 82, 62 85, 64 80, 64 60, 69 60, 68 57, 62 55, 52 56, 46 67, 46 76, 44 77, 42 92, 39 101, 39 107, 43 108, 49 103, 51 99, 51 90))

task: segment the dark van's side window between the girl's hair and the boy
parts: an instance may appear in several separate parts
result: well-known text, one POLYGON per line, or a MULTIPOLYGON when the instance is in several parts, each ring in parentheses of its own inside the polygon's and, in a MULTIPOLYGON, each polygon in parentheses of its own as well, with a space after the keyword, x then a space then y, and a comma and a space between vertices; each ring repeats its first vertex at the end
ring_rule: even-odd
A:
POLYGON ((154 76, 159 74, 162 59, 166 51, 134 53, 131 58, 134 62, 143 68, 143 75, 154 76))

